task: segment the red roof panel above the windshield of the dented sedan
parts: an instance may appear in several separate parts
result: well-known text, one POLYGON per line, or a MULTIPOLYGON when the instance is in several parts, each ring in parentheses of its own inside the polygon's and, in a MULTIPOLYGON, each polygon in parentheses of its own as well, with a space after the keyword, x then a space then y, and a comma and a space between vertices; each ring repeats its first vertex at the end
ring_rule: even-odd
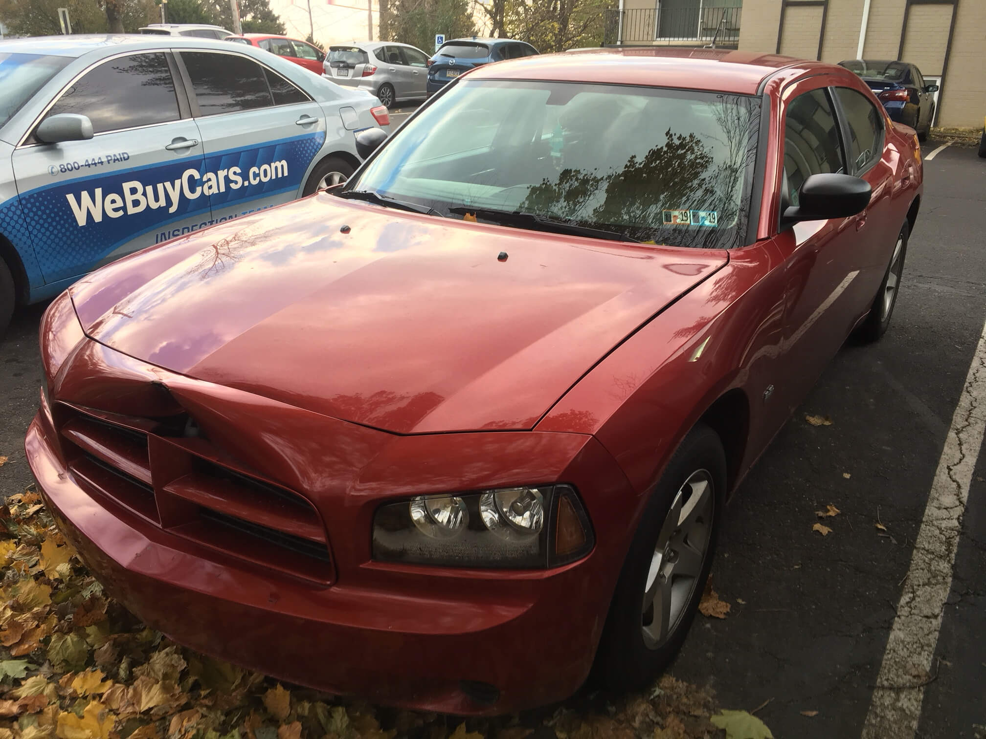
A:
POLYGON ((778 70, 788 76, 806 70, 839 71, 834 64, 780 54, 707 48, 593 48, 542 54, 482 66, 469 79, 534 79, 612 85, 647 85, 754 95, 778 70))

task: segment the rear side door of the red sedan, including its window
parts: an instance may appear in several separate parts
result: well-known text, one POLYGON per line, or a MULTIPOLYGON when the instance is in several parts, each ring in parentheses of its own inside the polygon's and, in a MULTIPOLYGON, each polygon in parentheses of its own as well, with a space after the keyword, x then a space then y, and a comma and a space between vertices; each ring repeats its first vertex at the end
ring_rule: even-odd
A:
POLYGON ((869 307, 868 301, 877 295, 902 226, 894 220, 892 203, 896 154, 884 151, 887 122, 882 107, 873 104, 858 90, 835 87, 831 92, 842 120, 849 173, 865 179, 872 189, 870 205, 855 217, 856 232, 860 236, 855 258, 861 270, 859 285, 865 304, 860 307, 860 312, 863 312, 869 307))

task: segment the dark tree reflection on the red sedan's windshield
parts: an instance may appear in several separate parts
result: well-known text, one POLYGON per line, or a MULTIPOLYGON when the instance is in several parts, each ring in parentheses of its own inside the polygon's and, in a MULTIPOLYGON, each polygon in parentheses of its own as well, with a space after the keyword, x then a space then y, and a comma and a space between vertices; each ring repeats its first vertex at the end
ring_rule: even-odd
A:
POLYGON ((675 133, 669 127, 663 142, 641 158, 630 154, 621 168, 608 173, 564 168, 553 181, 544 178, 529 189, 520 210, 617 227, 644 241, 710 248, 737 245, 746 222, 740 190, 749 158, 755 156, 752 139, 758 116, 755 107, 738 101, 716 103, 712 116, 717 135, 706 138, 717 151, 695 133, 675 133), (666 225, 666 210, 715 211, 719 226, 666 225), (724 243, 723 230, 733 227, 734 243, 724 243))

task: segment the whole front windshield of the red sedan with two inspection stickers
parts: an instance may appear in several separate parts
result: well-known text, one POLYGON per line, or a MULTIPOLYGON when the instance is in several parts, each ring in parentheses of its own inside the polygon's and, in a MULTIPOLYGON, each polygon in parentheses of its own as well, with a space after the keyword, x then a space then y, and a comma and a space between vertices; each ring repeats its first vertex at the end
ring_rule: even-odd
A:
POLYGON ((729 248, 743 243, 759 114, 746 96, 466 79, 409 120, 342 195, 371 191, 538 231, 729 248))

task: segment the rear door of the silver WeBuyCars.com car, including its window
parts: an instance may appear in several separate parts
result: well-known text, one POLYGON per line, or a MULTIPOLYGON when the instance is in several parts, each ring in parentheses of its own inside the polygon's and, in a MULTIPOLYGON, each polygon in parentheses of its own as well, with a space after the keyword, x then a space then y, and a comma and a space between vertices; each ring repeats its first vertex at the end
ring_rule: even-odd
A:
POLYGON ((202 134, 201 185, 213 218, 222 222, 298 197, 325 141, 318 103, 235 51, 182 50, 176 58, 202 134))

